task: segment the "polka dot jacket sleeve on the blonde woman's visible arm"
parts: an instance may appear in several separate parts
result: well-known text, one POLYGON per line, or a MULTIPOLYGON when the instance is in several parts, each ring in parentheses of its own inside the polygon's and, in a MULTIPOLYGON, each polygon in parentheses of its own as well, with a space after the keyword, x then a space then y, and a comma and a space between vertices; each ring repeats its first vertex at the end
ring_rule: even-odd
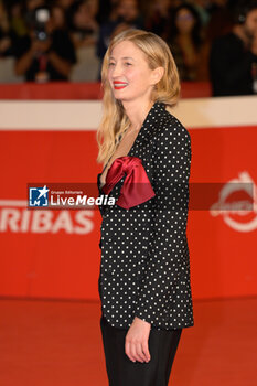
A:
POLYGON ((160 324, 165 305, 176 296, 176 280, 189 264, 185 233, 190 168, 191 137, 173 117, 157 139, 152 238, 135 309, 135 317, 153 325, 160 324))

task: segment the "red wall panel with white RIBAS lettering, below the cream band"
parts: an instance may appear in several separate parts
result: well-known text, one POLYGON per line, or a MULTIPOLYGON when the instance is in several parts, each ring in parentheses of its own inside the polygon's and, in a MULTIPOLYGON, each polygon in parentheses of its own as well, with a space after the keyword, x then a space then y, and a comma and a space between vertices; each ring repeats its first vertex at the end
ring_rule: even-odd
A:
MULTIPOLYGON (((189 131, 191 183, 225 185, 240 181, 243 174, 257 180, 257 127, 189 131)), ((33 227, 39 211, 26 208, 28 183, 96 183, 100 171, 96 156, 95 131, 0 131, 1 296, 98 299, 98 210, 45 211, 47 228, 39 233, 33 227), (60 216, 64 217, 56 228, 60 216)), ((188 237, 194 298, 257 293, 256 229, 256 212, 213 216, 207 208, 191 207, 188 237)))

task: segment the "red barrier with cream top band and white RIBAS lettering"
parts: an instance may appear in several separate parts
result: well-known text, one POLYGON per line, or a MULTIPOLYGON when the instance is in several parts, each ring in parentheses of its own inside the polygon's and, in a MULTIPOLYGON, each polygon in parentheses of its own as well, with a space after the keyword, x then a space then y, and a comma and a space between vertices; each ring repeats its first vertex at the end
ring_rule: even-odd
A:
MULTIPOLYGON (((255 96, 197 98, 173 111, 192 141, 194 299, 257 294, 256 106, 255 96), (251 207, 233 206, 238 196, 251 207)), ((99 299, 98 208, 33 208, 33 194, 45 202, 54 186, 57 203, 65 185, 96 192, 100 116, 100 100, 0 100, 1 297, 99 299)))

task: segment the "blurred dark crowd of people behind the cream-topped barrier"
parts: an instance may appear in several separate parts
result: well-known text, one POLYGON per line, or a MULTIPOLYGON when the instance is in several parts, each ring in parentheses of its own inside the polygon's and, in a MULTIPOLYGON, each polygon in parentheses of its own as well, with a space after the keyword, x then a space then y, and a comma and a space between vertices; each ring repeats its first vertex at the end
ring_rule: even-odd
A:
POLYGON ((0 83, 97 82, 110 39, 143 29, 169 44, 182 82, 257 93, 257 1, 0 0, 0 83))

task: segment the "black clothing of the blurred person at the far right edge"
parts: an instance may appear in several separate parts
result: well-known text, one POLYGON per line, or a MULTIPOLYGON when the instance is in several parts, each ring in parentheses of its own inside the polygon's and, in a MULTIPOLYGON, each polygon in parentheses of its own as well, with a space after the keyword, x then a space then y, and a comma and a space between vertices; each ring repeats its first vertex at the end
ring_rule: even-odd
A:
POLYGON ((213 96, 254 94, 253 63, 257 63, 257 56, 245 49, 235 33, 217 37, 210 54, 213 96))

